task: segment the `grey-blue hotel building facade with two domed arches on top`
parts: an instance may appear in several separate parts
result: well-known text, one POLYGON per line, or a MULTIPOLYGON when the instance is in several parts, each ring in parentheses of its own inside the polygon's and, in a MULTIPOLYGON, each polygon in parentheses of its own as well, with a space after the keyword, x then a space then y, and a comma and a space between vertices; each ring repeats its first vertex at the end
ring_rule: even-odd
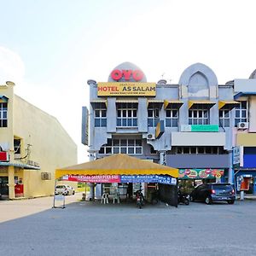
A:
POLYGON ((178 84, 148 83, 139 67, 124 62, 113 68, 108 82, 88 84, 90 109, 84 108, 83 119, 89 117, 91 160, 130 154, 176 167, 179 178, 194 185, 196 180, 232 182, 239 102, 234 84, 218 84, 212 69, 195 63, 178 84))

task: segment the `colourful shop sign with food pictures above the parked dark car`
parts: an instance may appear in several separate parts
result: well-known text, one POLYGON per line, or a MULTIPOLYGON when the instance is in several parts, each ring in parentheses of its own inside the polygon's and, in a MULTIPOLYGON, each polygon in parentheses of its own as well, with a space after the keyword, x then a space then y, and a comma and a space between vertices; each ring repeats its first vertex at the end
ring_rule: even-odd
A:
POLYGON ((220 178, 224 175, 223 169, 178 169, 178 178, 220 178))

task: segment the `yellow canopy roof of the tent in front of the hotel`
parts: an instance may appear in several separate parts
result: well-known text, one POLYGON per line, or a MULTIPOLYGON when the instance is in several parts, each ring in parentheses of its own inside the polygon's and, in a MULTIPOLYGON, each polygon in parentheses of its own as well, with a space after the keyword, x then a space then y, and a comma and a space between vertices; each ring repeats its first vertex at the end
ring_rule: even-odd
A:
POLYGON ((151 161, 139 160, 127 154, 113 154, 75 166, 55 170, 55 178, 64 175, 150 175, 162 174, 178 177, 176 168, 162 166, 151 161))

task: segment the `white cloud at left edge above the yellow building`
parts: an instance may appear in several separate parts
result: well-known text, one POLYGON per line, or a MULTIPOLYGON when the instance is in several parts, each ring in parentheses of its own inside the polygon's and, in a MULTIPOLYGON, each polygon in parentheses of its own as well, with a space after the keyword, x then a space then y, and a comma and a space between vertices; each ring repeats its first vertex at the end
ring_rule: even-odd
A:
POLYGON ((25 65, 20 58, 11 49, 0 46, 0 83, 6 81, 21 83, 25 75, 25 65))

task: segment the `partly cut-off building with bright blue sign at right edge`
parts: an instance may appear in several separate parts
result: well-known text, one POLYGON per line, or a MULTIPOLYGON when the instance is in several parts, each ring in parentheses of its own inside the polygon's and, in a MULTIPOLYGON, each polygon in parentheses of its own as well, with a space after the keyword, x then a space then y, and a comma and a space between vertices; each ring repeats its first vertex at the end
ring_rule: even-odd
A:
POLYGON ((238 191, 256 193, 256 71, 249 79, 235 79, 236 108, 234 145, 237 159, 234 162, 235 183, 238 191), (242 188, 241 188, 242 187, 242 188))

